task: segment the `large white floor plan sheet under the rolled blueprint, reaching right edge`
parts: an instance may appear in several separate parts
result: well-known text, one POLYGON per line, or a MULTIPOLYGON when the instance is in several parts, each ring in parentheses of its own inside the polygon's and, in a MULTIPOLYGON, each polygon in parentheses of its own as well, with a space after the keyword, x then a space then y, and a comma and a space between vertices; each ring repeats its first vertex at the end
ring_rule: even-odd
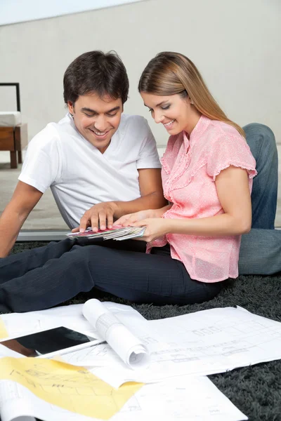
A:
POLYGON ((107 344, 86 355, 70 354, 68 362, 92 363, 92 373, 118 387, 130 380, 146 383, 183 374, 209 375, 281 359, 281 323, 244 309, 210 309, 134 324, 135 330, 139 327, 138 338, 150 349, 147 370, 126 368, 107 344))

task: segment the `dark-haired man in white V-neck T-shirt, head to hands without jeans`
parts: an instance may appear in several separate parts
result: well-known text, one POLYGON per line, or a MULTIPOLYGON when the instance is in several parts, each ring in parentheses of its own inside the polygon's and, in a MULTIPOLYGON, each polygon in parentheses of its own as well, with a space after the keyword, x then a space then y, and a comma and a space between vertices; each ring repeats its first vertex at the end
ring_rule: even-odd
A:
POLYGON ((63 86, 69 113, 30 142, 0 218, 0 258, 48 187, 67 225, 80 224, 81 231, 89 225, 105 229, 122 215, 166 203, 148 123, 122 114, 129 80, 118 55, 80 55, 67 67, 63 86))

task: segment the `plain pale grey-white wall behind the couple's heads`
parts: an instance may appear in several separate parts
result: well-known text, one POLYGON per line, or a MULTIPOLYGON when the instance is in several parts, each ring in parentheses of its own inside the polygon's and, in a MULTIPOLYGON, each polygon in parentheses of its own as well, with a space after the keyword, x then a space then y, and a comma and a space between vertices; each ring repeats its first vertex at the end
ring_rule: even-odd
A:
MULTIPOLYGON (((65 114, 63 73, 77 55, 119 53, 131 82, 125 112, 148 117, 137 92, 141 71, 159 51, 188 55, 230 119, 268 124, 281 142, 279 0, 148 0, 60 18, 0 27, 0 81, 20 82, 30 138, 65 114)), ((15 108, 0 88, 0 110, 15 108)))

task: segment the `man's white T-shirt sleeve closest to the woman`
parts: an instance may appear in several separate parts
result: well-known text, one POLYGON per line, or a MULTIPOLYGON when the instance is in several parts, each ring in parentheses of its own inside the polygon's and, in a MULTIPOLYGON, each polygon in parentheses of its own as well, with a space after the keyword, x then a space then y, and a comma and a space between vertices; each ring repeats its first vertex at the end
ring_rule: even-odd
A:
POLYGON ((145 119, 141 119, 141 127, 138 129, 141 131, 142 145, 136 168, 161 168, 156 141, 150 126, 148 126, 148 122, 145 119))

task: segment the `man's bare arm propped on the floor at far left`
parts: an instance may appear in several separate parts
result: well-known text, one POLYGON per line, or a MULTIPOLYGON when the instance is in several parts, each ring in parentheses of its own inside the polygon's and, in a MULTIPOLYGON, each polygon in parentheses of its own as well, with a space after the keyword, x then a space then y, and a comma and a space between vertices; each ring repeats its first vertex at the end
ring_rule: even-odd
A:
POLYGON ((0 218, 0 258, 5 258, 11 251, 23 222, 41 196, 42 193, 35 187, 18 182, 12 199, 0 218))

